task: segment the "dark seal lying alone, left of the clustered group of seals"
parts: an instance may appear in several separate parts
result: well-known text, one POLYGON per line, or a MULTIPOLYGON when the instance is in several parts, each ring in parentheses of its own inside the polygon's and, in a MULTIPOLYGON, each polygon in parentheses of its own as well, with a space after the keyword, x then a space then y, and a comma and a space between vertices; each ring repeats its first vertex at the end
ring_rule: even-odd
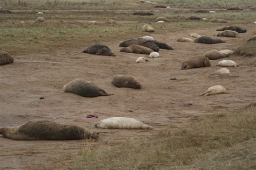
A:
POLYGON ((109 47, 101 44, 95 44, 87 47, 83 50, 83 52, 96 55, 116 56, 116 54, 114 54, 114 52, 109 47))

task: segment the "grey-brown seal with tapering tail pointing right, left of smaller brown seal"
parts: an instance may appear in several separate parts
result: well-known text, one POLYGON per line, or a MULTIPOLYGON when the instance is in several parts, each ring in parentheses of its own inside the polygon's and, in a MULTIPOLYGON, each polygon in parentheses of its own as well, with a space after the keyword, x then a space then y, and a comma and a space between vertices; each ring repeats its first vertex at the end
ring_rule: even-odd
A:
POLYGON ((65 93, 75 93, 83 97, 109 96, 103 89, 95 83, 84 79, 75 79, 67 83, 63 90, 65 93))

